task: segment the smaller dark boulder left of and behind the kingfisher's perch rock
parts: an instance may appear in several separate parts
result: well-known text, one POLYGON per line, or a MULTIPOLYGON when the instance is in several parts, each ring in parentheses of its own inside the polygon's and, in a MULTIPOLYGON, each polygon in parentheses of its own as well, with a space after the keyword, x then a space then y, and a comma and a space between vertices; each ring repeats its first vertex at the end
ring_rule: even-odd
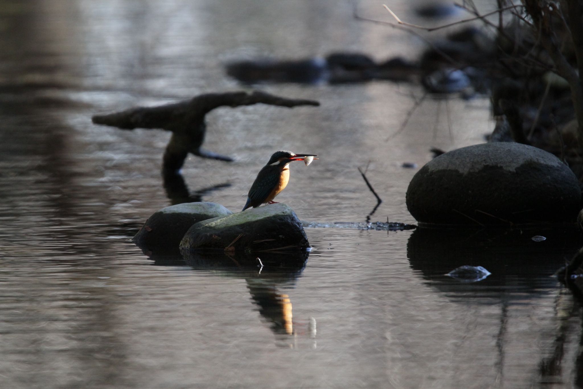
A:
POLYGON ((182 237, 194 223, 232 214, 213 202, 167 206, 150 216, 132 241, 145 253, 178 252, 182 237))

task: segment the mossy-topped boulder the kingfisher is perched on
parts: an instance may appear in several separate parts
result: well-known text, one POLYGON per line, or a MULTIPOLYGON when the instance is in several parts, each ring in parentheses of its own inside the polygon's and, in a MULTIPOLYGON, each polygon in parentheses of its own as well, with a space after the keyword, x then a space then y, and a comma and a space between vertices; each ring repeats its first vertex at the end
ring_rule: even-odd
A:
POLYGON ((180 242, 181 248, 220 249, 227 253, 305 250, 309 246, 296 213, 280 203, 198 222, 180 242))

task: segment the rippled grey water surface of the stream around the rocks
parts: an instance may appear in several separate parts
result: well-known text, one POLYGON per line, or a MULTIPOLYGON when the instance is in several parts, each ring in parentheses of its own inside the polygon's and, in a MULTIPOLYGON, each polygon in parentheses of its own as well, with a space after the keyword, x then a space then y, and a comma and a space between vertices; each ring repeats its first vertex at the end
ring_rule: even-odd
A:
MULTIPOLYGON (((488 4, 484 5, 487 8, 488 4)), ((375 2, 365 16, 384 17, 375 2)), ((415 19, 406 2, 394 10, 415 19)), ((581 383, 581 314, 554 271, 577 237, 520 232, 307 229, 303 266, 153 261, 130 238, 170 204, 169 134, 90 116, 243 87, 229 59, 414 58, 410 34, 357 22, 334 1, 0 1, 0 383, 10 388, 490 388, 581 383), (460 265, 492 274, 444 276, 460 265)), ((427 99, 398 132, 416 87, 265 85, 321 107, 220 108, 190 157, 191 197, 238 211, 272 152, 293 166, 279 201, 302 220, 413 223, 405 192, 429 148, 482 141, 486 100, 427 99), (398 132, 398 134, 396 134, 398 132), (387 141, 387 139, 389 140, 387 141), (203 188, 220 190, 197 194, 203 188), (227 185, 228 184, 228 185, 227 185)))

